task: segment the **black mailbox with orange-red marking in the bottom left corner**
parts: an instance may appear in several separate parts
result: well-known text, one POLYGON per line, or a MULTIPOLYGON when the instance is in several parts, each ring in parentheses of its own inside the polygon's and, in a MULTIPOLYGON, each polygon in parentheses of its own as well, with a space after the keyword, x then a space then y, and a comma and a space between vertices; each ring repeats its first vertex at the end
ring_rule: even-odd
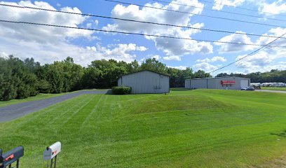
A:
POLYGON ((3 155, 3 167, 7 167, 12 165, 13 162, 17 162, 17 166, 19 167, 19 159, 24 156, 24 147, 18 146, 17 148, 12 149, 4 153, 3 155))

